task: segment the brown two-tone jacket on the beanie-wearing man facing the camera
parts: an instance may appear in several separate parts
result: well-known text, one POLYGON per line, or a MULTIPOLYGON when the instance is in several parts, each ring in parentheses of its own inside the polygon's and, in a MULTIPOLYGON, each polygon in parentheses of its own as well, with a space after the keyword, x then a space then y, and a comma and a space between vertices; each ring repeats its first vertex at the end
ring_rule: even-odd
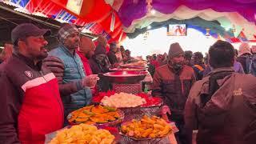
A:
POLYGON ((195 82, 194 70, 184 66, 179 74, 174 74, 167 64, 158 67, 154 73, 153 96, 161 96, 173 114, 183 114, 186 98, 195 82))

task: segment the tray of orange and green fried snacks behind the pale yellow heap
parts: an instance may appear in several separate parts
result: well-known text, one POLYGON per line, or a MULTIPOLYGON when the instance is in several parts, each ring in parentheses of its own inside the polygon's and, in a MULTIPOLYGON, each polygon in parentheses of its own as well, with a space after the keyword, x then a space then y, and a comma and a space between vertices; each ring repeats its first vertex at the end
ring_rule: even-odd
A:
POLYGON ((122 122, 124 113, 110 106, 91 105, 71 112, 67 116, 71 125, 85 123, 89 125, 115 126, 122 122))

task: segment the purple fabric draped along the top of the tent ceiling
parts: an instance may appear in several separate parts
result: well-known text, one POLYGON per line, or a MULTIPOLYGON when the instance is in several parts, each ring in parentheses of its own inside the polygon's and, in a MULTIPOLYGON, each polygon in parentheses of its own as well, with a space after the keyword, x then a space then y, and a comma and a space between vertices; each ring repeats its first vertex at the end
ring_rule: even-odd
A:
MULTIPOLYGON (((134 20, 146 16, 146 1, 126 0, 122 2, 118 15, 124 26, 128 27, 134 20)), ((237 12, 248 22, 255 22, 254 14, 256 14, 255 0, 151 0, 151 6, 162 14, 172 14, 179 6, 187 6, 191 10, 212 9, 216 12, 237 12)))

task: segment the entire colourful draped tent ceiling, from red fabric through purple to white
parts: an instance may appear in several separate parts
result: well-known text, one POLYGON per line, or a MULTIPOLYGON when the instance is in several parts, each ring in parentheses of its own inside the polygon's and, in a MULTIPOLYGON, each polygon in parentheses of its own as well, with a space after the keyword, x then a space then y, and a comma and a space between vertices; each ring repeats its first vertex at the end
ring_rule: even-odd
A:
POLYGON ((217 20, 226 28, 235 27, 235 36, 243 31, 249 39, 254 38, 256 30, 256 0, 83 0, 79 12, 67 6, 69 0, 3 1, 17 3, 31 14, 42 13, 60 22, 72 22, 79 26, 96 22, 102 26, 101 33, 107 33, 111 41, 122 39, 122 35, 126 36, 124 33, 133 33, 135 29, 145 28, 152 22, 164 22, 171 18, 217 20), (150 14, 150 8, 157 14, 150 14), (110 30, 113 14, 114 30, 110 30))

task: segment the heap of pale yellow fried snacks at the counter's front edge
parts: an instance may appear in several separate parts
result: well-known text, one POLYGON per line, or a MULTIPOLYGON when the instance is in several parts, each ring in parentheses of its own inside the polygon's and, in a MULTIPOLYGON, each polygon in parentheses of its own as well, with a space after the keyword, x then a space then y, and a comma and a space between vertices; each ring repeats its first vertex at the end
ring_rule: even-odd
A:
MULTIPOLYGON (((46 140, 47 138, 46 134, 46 140)), ((109 130, 98 129, 96 126, 80 124, 76 126, 67 126, 62 130, 51 133, 52 137, 46 144, 59 143, 114 143, 114 135, 109 130)))

